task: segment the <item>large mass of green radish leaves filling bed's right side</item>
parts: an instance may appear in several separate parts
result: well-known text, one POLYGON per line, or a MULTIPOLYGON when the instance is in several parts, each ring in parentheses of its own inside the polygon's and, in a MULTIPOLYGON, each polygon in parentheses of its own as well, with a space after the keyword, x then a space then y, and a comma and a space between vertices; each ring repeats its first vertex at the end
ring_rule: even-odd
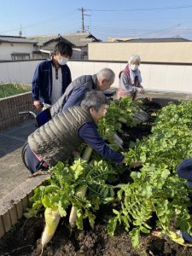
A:
POLYGON ((131 172, 132 183, 119 186, 121 209, 113 209, 115 216, 109 220, 108 234, 114 234, 117 224, 124 224, 133 246, 138 247, 140 233, 150 232, 149 220, 155 214, 161 234, 184 244, 183 239, 172 231, 171 223, 174 219, 177 229, 188 232, 192 226, 188 211, 191 191, 175 172, 177 164, 192 153, 191 107, 192 102, 181 102, 163 108, 153 134, 132 143, 132 148, 125 153, 127 165, 131 160, 141 160, 143 167, 131 172))

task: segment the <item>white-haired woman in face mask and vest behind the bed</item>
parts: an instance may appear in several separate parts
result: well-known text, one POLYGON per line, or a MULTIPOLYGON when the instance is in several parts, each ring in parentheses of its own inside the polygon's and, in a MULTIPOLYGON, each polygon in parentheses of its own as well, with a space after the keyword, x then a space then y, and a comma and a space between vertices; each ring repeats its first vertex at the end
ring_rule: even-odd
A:
POLYGON ((139 55, 131 55, 125 69, 119 73, 119 88, 117 90, 117 99, 122 96, 131 96, 134 101, 137 93, 144 93, 141 85, 142 77, 138 69, 141 59, 139 55))

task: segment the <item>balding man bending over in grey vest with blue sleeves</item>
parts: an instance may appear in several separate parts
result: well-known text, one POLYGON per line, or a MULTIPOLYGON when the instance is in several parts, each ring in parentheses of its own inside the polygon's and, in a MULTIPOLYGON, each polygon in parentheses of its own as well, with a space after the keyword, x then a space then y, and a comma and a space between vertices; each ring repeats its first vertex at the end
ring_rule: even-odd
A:
POLYGON ((108 90, 114 82, 115 74, 110 68, 103 68, 94 75, 84 75, 73 80, 61 98, 50 109, 51 116, 62 109, 80 106, 85 93, 89 90, 108 90))

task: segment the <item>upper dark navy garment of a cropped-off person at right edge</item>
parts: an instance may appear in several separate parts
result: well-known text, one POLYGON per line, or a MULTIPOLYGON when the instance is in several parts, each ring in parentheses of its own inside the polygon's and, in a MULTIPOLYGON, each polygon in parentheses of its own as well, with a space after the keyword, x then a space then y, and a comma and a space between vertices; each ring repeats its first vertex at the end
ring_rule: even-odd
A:
POLYGON ((183 177, 188 181, 189 187, 192 187, 192 158, 183 160, 177 166, 177 175, 178 177, 183 177))

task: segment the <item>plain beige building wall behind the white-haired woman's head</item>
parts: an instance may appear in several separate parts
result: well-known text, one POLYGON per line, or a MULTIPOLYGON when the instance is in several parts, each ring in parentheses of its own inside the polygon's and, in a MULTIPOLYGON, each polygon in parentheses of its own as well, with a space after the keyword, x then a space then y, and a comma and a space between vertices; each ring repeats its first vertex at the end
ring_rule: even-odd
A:
POLYGON ((90 61, 128 61, 131 55, 142 61, 192 63, 192 42, 90 43, 90 61))

